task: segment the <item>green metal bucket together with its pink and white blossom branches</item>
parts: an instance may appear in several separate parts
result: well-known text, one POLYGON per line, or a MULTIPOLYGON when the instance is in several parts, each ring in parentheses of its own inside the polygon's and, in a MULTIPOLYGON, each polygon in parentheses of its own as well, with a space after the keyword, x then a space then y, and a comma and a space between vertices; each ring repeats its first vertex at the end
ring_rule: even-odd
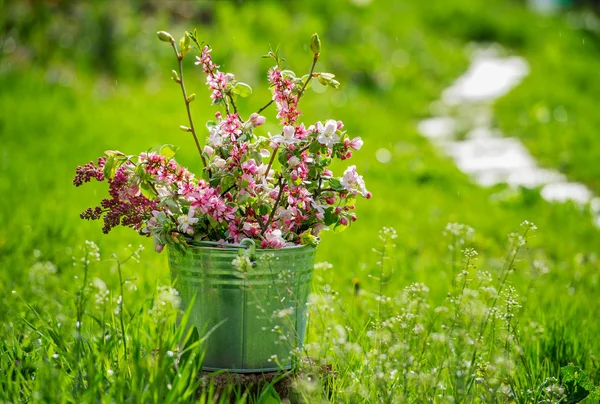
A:
POLYGON ((299 102, 314 80, 339 86, 333 74, 315 71, 321 52, 317 34, 310 40, 313 60, 306 75, 285 69, 279 52, 269 51, 266 57, 275 62, 268 71, 272 98, 246 118, 236 100, 251 95, 251 87, 220 71, 211 48, 195 32, 186 32, 179 47, 167 32, 158 37, 175 52, 178 70, 172 79, 181 88, 188 117, 180 128, 192 136, 203 170, 194 175, 179 165, 177 147, 170 144, 139 155, 106 151, 97 163, 77 168, 76 186, 95 179, 107 181, 109 188, 109 197, 81 218, 103 219, 104 233, 131 227, 151 236, 158 252, 170 247, 169 264, 184 306, 194 302, 194 325, 213 327, 205 368, 265 370, 273 356, 289 366, 288 354, 304 338, 319 233, 350 225, 356 220, 355 198, 371 197, 355 166, 341 176, 329 168, 334 159, 350 158, 363 142, 351 138, 338 120, 299 122, 299 102), (220 107, 215 120, 206 123, 203 144, 190 109, 196 95, 188 93, 182 68, 194 48, 212 104, 220 107), (269 107, 276 109, 280 129, 275 134, 260 130, 269 107), (289 321, 273 325, 272 317, 289 321), (265 337, 265 329, 275 338, 265 337), (254 336, 247 338, 248 333, 254 336), (281 341, 289 347, 277 348, 281 341))

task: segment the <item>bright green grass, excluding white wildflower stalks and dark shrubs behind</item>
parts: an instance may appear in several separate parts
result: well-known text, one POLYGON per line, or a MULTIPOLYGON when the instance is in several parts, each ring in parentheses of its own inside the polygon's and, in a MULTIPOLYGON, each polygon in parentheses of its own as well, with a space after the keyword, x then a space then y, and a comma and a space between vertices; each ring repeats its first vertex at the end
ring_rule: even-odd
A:
MULTIPOLYGON (((146 26, 145 30, 152 38, 158 29, 175 33, 165 24, 150 21, 151 27, 146 26)), ((466 379, 453 376, 462 366, 459 359, 469 357, 473 350, 465 348, 462 356, 448 356, 448 352, 455 352, 451 348, 463 343, 467 346, 466 341, 475 336, 484 320, 477 307, 490 304, 481 296, 474 297, 473 292, 465 300, 472 301, 471 309, 458 310, 454 320, 454 306, 445 298, 448 292, 462 294, 460 289, 452 288, 455 274, 448 249, 452 240, 443 236, 449 222, 466 223, 476 230, 474 238, 465 244, 480 255, 477 269, 469 267, 469 277, 473 278, 479 270, 500 276, 507 254, 507 234, 519 230, 523 220, 532 221, 539 228, 518 254, 515 271, 507 283, 521 296, 523 308, 517 311, 516 326, 520 342, 515 343, 514 332, 511 334, 510 329, 503 328, 506 324, 497 320, 493 327, 490 323, 485 333, 484 341, 489 345, 477 348, 491 362, 506 355, 516 364, 512 373, 504 369, 498 370, 498 377, 490 376, 489 380, 495 383, 494 395, 486 395, 485 399, 503 400, 506 397, 502 392, 511 386, 518 392, 515 394, 519 401, 524 401, 528 389, 537 391, 546 378, 559 377, 560 367, 570 362, 583 367, 593 381, 600 380, 594 356, 600 349, 600 325, 592 314, 599 308, 596 295, 600 237, 589 212, 570 203, 548 204, 537 190, 479 188, 415 129, 416 122, 429 114, 429 103, 466 68, 465 44, 470 40, 498 40, 524 53, 532 66, 532 74, 523 85, 499 103, 500 126, 507 133, 523 131, 523 114, 537 116, 539 112, 534 109, 541 105, 552 115, 560 102, 568 113, 567 122, 543 125, 533 119, 527 121, 532 125, 532 130, 526 131, 531 136, 530 145, 536 146, 530 150, 539 152, 544 164, 555 165, 559 162, 554 148, 561 144, 560 150, 573 157, 565 170, 567 174, 596 186, 594 181, 599 177, 591 162, 595 161, 597 147, 592 135, 597 117, 590 109, 595 92, 594 84, 589 84, 596 63, 590 49, 593 42, 590 48, 575 48, 577 38, 583 34, 569 31, 560 18, 533 16, 512 2, 494 2, 494 7, 487 2, 470 1, 453 5, 434 2, 427 6, 391 3, 387 7, 374 3, 367 8, 342 7, 335 2, 305 6, 264 2, 261 7, 221 3, 216 7, 213 25, 198 28, 200 36, 213 46, 217 63, 255 89, 255 94, 240 105, 244 116, 268 99, 264 77, 270 65, 259 56, 269 44, 281 42, 287 62, 301 71, 310 67, 306 43, 318 31, 323 41, 322 69, 338 75, 342 88, 324 94, 309 93, 301 105, 305 121, 341 119, 349 133, 365 140, 352 164, 364 175, 374 196, 359 201, 359 220, 349 230, 324 234, 318 250, 318 261, 332 263, 333 269, 317 271, 315 291, 320 298, 328 299, 335 310, 330 314, 323 306, 314 308, 310 341, 336 341, 332 334, 339 329, 336 324, 351 329, 344 343, 312 348, 314 355, 331 363, 338 372, 328 387, 334 400, 356 402, 368 401, 370 397, 371 401, 398 402, 405 397, 405 386, 408 399, 416 401, 433 394, 471 401, 475 392, 477 397, 485 393, 482 385, 468 393, 461 390, 466 379), (568 32, 564 43, 544 41, 544 35, 555 30, 568 32), (282 32, 286 35, 282 36, 282 32), (563 57, 568 59, 564 65, 556 55, 554 64, 546 64, 551 55, 561 54, 567 47, 572 48, 572 53, 563 57), (390 56, 404 55, 402 51, 409 56, 406 65, 390 56), (554 80, 553 87, 543 84, 546 79, 541 71, 545 66, 560 77, 554 80), (588 81, 582 82, 586 77, 588 81), (583 87, 577 87, 578 82, 589 85, 580 83, 583 87), (547 91, 544 94, 548 98, 538 97, 541 91, 547 91), (577 119, 571 119, 572 116, 577 119), (571 139, 568 143, 546 139, 545 130, 562 133, 559 131, 565 127, 569 128, 564 132, 571 139), (577 146, 580 144, 586 147, 577 146), (392 152, 389 164, 375 159, 380 148, 392 152), (542 150, 547 153, 547 160, 542 150), (378 235, 383 226, 395 228, 398 238, 394 240, 395 247, 388 245, 388 256, 393 259, 386 261, 383 280, 377 280, 381 278, 381 268, 376 265, 380 257, 372 248, 380 248, 378 235), (541 267, 547 267, 549 272, 540 275, 541 267), (356 281, 361 290, 358 296, 354 293, 356 281), (414 298, 418 305, 413 307, 402 290, 414 282, 425 283, 430 291, 424 300, 414 298), (326 285, 339 295, 328 292, 326 285), (383 311, 378 310, 375 300, 381 285, 384 294, 393 298, 393 304, 383 311), (447 305, 450 311, 433 322, 435 314, 425 303, 432 307, 447 305), (423 322, 425 334, 403 335, 400 323, 381 335, 375 333, 379 336, 367 332, 381 330, 382 322, 406 314, 409 308, 418 309, 413 314, 423 322), (544 332, 538 335, 532 322, 540 324, 544 332), (456 328, 450 335, 454 344, 431 342, 432 334, 442 332, 441 324, 454 323, 456 328), (492 335, 492 329, 497 329, 497 334, 492 335), (396 342, 402 341, 405 345, 395 347, 396 342), (425 350, 420 361, 408 366, 411 349, 423 346, 423 341, 430 341, 431 348, 425 350), (358 344, 361 353, 345 354, 349 342, 358 344), (524 360, 515 352, 517 345, 523 349, 524 360), (385 351, 389 360, 375 358, 375 349, 385 351), (446 386, 446 393, 436 389, 431 380, 376 377, 379 370, 387 375, 393 369, 402 375, 409 375, 411 370, 426 375, 436 366, 444 368, 439 379, 446 386)), ((78 214, 94 204, 105 190, 102 184, 83 189, 71 184, 75 167, 95 159, 106 149, 118 148, 133 154, 174 143, 182 146, 178 160, 199 170, 192 139, 178 129, 185 124, 184 105, 178 88, 169 80, 174 60, 164 45, 158 40, 150 42, 146 53, 140 55, 140 59, 164 66, 150 77, 123 72, 107 78, 78 72, 73 85, 63 87, 49 83, 47 72, 33 66, 4 69, 0 75, 2 401, 191 400, 198 361, 186 364, 185 377, 178 381, 171 362, 155 361, 149 353, 154 349, 159 353, 176 350, 178 340, 175 331, 168 326, 157 327, 148 313, 156 298, 156 286, 169 284, 166 257, 151 251, 149 239, 127 229, 103 236, 99 223, 81 221, 78 214), (90 266, 89 274, 90 280, 101 278, 111 291, 110 303, 99 307, 93 300, 95 289, 81 289, 81 265, 73 266, 72 256, 82 256, 83 240, 96 242, 103 255, 100 263, 90 266), (129 261, 123 266, 125 278, 132 278, 137 285, 137 291, 125 292, 126 334, 130 337, 126 357, 122 339, 118 338, 122 333, 119 316, 111 314, 120 293, 118 273, 110 256, 116 253, 123 260, 131 253, 125 247, 140 243, 146 247, 140 262, 129 261), (45 262, 51 262, 55 271, 42 265, 45 262), (91 300, 85 306, 85 327, 79 335, 75 326, 76 304, 81 299, 78 296, 84 295, 91 300), (104 338, 106 331, 116 337, 112 342, 104 338), (59 354, 57 358, 52 357, 55 353, 59 354), (108 369, 114 372, 112 376, 108 369)), ((215 109, 205 102, 208 91, 202 75, 194 70, 191 61, 189 64, 187 85, 198 94, 194 113, 199 124, 210 118, 215 109)), ((273 120, 272 112, 268 119, 273 120)), ((265 130, 269 130, 268 125, 265 130)), ((455 261, 459 262, 460 254, 456 255, 455 261)), ((477 283, 470 288, 478 290, 477 283)), ((301 383, 299 390, 309 394, 312 389, 310 394, 317 394, 321 387, 301 383)), ((240 398, 243 395, 239 391, 237 394, 240 398)), ((312 402, 317 399, 313 397, 312 402)))

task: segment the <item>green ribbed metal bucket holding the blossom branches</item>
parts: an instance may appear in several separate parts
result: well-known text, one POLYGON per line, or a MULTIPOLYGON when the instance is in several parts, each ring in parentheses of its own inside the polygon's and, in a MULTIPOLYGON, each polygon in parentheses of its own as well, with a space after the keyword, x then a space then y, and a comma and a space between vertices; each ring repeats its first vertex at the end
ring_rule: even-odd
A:
POLYGON ((202 243, 186 253, 169 248, 169 266, 200 336, 208 334, 203 369, 254 373, 290 369, 306 333, 315 248, 255 249, 202 243), (233 260, 247 256, 240 270, 233 260))

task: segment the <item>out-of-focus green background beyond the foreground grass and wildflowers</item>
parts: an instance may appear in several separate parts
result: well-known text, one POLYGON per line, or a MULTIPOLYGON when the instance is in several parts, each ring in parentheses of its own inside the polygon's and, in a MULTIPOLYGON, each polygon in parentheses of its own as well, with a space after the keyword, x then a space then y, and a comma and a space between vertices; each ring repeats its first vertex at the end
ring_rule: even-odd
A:
MULTIPOLYGON (((27 283, 22 271, 37 259, 66 271, 84 239, 108 251, 141 242, 147 247, 142 277, 148 284, 168 279, 165 257, 151 251, 149 239, 127 229, 103 236, 100 223, 78 218, 105 190, 103 184, 76 189, 71 181, 77 165, 106 149, 134 154, 164 143, 180 145, 178 160, 200 169, 192 139, 178 128, 186 117, 170 80, 176 60, 156 37, 166 30, 178 39, 196 28, 222 70, 253 87, 253 96, 241 101, 244 117, 270 98, 271 62, 260 56, 280 45, 290 68, 308 72, 308 41, 320 34, 317 68, 336 74, 342 85, 337 91, 315 86, 301 103, 303 119, 340 119, 364 139, 350 163, 374 195, 357 202, 359 220, 349 230, 323 235, 319 259, 337 268, 340 289, 352 290, 353 278, 368 287, 382 226, 399 234, 398 287, 425 281, 443 296, 451 259, 447 223, 474 227, 473 243, 493 267, 501 264, 495 257, 502 256, 506 235, 527 219, 540 228, 528 254, 555 271, 552 290, 591 296, 600 251, 593 206, 549 203, 539 187, 479 186, 417 128, 468 69, 473 50, 493 46, 524 58, 529 69, 494 103, 494 126, 520 139, 541 166, 600 193, 598 8, 583 0, 0 0, 3 288, 27 283)), ((201 126, 216 107, 191 55, 185 68, 201 126)), ((274 110, 268 112, 265 132, 275 130, 274 110)))

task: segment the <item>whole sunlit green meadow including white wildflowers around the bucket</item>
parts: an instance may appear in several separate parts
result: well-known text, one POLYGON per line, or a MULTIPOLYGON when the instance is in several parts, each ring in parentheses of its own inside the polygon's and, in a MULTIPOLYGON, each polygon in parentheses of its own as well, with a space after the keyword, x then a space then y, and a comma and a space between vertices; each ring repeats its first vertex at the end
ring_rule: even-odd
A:
MULTIPOLYGON (((165 254, 128 229, 105 236, 99 223, 79 219, 105 190, 72 185, 75 168, 107 149, 173 143, 178 161, 200 170, 193 140, 179 130, 175 60, 156 39, 161 29, 179 37, 191 28, 217 63, 252 85, 239 104, 245 116, 270 98, 270 64, 260 56, 279 44, 290 66, 308 71, 308 39, 319 32, 322 69, 342 85, 310 92, 303 119, 340 119, 365 141, 352 164, 373 198, 357 203, 348 230, 325 233, 317 253, 328 264, 315 269, 307 353, 333 376, 306 365, 292 399, 598 401, 600 233, 589 207, 547 203, 537 189, 481 188, 416 131, 467 67, 467 45, 499 42, 532 72, 496 105, 498 126, 543 165, 600 191, 600 42, 573 24, 588 14, 538 16, 514 1, 362 3, 215 2, 184 8, 189 17, 142 17, 115 3, 106 11, 118 21, 113 42, 95 57, 68 31, 77 24, 65 28, 70 47, 54 42, 55 25, 66 21, 56 10, 40 20, 46 26, 22 31, 32 41, 24 41, 28 57, 6 51, 7 35, 16 36, 3 20, 1 402, 212 402, 215 387, 196 378, 201 343, 178 344, 185 336, 174 325, 165 254), (48 47, 56 52, 42 52, 48 47), (378 161, 381 149, 389 161, 378 161)), ((101 25, 98 10, 78 23, 83 33, 101 25)), ((203 122, 216 108, 187 62, 203 122)), ((273 110, 266 116, 274 119, 273 110)), ((272 386, 229 389, 240 402, 280 398, 272 386)))

